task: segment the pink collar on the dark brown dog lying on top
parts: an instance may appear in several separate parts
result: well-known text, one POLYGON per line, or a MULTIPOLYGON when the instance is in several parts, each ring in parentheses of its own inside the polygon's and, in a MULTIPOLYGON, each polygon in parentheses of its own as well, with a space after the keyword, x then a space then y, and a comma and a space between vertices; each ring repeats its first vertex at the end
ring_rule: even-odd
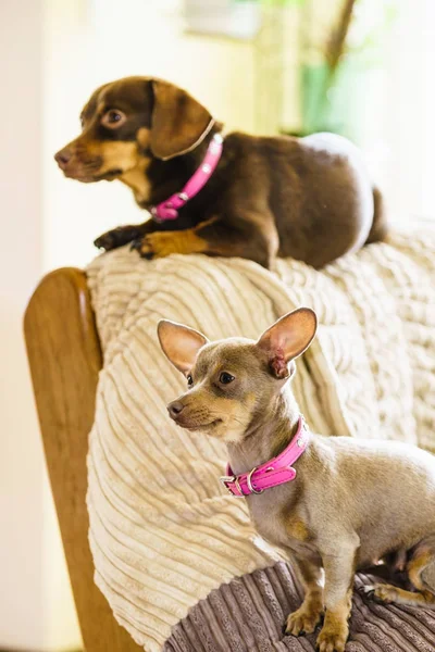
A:
POLYGON ((150 209, 151 215, 157 222, 176 220, 178 217, 178 209, 183 208, 189 201, 189 199, 198 195, 198 192, 206 186, 210 176, 216 168, 221 158, 223 148, 222 143, 223 138, 221 134, 214 134, 201 165, 189 178, 183 190, 176 195, 171 195, 169 199, 150 209))

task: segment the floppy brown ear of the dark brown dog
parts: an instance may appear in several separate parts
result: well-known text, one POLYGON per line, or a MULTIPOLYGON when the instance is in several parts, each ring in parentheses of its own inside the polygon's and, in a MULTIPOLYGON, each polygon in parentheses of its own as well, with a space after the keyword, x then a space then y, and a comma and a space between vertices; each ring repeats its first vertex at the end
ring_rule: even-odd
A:
POLYGON ((182 88, 152 79, 154 106, 150 148, 166 161, 192 150, 211 130, 214 120, 202 104, 182 88))

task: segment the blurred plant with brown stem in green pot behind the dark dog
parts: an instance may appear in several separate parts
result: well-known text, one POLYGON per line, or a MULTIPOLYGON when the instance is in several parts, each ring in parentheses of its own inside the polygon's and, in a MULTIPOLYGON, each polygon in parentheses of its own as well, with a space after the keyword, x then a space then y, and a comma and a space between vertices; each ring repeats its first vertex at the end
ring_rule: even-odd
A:
POLYGON ((300 134, 333 130, 352 137, 361 87, 382 64, 398 0, 233 0, 252 1, 299 12, 299 33, 284 35, 283 47, 299 49, 300 134))

